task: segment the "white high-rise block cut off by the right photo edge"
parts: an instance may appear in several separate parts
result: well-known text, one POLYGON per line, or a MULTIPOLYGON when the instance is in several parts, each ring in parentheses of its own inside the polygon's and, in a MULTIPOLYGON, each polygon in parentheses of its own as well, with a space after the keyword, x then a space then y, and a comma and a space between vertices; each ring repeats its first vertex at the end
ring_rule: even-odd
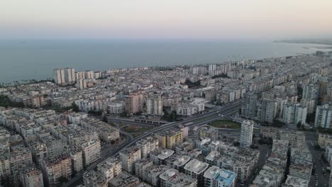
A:
POLYGON ((332 128, 332 103, 324 103, 317 106, 315 126, 321 128, 332 128))

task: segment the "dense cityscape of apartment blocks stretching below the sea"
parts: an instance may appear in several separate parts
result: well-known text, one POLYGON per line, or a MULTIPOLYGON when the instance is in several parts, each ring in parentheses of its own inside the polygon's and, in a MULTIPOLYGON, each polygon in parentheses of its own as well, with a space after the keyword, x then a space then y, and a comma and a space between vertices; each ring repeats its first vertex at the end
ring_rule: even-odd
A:
POLYGON ((332 186, 332 52, 1 84, 1 186, 332 186))

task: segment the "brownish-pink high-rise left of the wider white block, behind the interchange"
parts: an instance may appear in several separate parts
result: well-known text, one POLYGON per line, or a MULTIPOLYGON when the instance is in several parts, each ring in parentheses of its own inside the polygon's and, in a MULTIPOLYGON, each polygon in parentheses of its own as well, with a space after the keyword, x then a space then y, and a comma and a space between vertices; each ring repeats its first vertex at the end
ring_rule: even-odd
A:
POLYGON ((129 96, 126 96, 125 99, 125 111, 127 113, 140 113, 143 111, 143 94, 139 92, 132 93, 129 96))

